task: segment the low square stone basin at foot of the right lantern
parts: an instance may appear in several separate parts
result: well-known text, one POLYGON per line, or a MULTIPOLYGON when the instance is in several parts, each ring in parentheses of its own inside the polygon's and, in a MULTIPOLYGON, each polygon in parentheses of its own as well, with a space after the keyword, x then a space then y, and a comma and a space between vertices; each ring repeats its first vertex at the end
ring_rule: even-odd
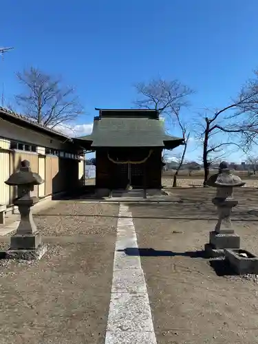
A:
POLYGON ((225 258, 238 275, 258 275, 258 257, 246 250, 225 250, 225 258), (242 257, 244 253, 247 257, 242 257))

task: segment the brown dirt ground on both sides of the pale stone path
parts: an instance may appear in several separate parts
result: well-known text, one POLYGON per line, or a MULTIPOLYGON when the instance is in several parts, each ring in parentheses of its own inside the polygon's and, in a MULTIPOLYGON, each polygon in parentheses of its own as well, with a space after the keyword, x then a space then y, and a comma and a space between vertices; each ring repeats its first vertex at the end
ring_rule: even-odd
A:
MULTIPOLYGON (((257 279, 202 255, 215 190, 171 192, 180 203, 129 206, 157 343, 258 343, 257 279)), ((233 225, 258 255, 257 193, 235 192, 233 225)), ((0 344, 104 344, 118 204, 62 201, 34 219, 50 250, 39 262, 0 261, 0 344)))

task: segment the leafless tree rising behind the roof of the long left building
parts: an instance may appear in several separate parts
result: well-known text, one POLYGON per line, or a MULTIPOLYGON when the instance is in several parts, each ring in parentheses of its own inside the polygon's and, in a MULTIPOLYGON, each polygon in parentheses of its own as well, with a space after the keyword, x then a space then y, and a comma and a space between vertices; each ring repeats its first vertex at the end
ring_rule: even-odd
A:
POLYGON ((15 96, 25 116, 44 127, 69 124, 83 113, 83 107, 72 87, 65 87, 60 78, 31 67, 17 73, 24 92, 15 96))

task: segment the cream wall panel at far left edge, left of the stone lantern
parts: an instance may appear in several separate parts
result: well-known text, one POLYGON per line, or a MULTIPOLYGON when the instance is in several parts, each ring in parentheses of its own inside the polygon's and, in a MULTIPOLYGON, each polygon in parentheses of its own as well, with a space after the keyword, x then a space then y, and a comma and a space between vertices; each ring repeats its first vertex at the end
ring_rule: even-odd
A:
POLYGON ((10 177, 10 153, 0 152, 0 204, 10 204, 10 186, 5 182, 10 177))

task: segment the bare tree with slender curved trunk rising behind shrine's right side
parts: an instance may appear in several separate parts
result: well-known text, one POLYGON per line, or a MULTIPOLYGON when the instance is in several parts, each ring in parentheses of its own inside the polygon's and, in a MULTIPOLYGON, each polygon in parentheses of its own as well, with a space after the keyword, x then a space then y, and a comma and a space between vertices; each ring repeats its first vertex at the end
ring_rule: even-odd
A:
POLYGON ((178 168, 173 176, 173 187, 177 186, 177 176, 184 162, 190 131, 182 120, 180 110, 189 106, 189 96, 193 90, 182 85, 178 80, 167 81, 162 78, 152 79, 149 83, 135 85, 138 100, 134 102, 137 107, 144 109, 157 109, 166 120, 172 120, 178 125, 184 138, 184 150, 180 155, 178 168))

